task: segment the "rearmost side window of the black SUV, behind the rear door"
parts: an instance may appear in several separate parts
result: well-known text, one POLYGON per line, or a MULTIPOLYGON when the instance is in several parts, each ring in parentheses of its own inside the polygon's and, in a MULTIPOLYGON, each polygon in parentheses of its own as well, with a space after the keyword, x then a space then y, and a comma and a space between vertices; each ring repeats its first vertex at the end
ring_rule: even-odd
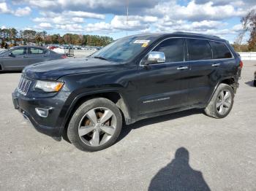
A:
POLYGON ((232 58, 232 54, 225 43, 214 41, 210 41, 210 43, 214 52, 214 59, 232 58))

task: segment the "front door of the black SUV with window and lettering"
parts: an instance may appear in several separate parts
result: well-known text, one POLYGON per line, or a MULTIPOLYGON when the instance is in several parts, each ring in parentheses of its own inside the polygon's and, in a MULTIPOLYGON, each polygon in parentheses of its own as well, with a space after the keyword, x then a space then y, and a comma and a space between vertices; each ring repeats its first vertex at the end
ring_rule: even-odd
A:
POLYGON ((165 39, 152 51, 164 52, 166 61, 140 66, 139 113, 186 106, 189 64, 184 63, 184 39, 165 39))

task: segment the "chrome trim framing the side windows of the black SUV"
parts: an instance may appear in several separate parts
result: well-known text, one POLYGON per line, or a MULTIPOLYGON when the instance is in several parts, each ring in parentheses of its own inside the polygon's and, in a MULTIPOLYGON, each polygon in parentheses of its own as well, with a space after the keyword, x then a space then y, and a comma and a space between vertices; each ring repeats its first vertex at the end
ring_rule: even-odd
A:
MULTIPOLYGON (((153 64, 149 64, 149 65, 154 66, 154 65, 162 65, 162 64, 170 64, 170 63, 188 63, 188 62, 198 62, 198 61, 220 61, 220 60, 225 60, 225 61, 227 61, 227 60, 233 60, 233 59, 235 58, 234 55, 233 55, 233 52, 230 50, 230 47, 228 47, 225 42, 221 42, 221 41, 217 41, 217 40, 212 40, 212 39, 200 39, 200 38, 195 38, 195 37, 168 37, 167 39, 163 39, 161 42, 159 42, 159 43, 158 43, 156 46, 154 46, 150 51, 148 51, 148 53, 151 52, 152 50, 154 50, 154 48, 157 47, 159 44, 161 44, 162 42, 164 42, 164 41, 166 41, 166 40, 168 40, 168 39, 186 39, 186 41, 187 41, 187 39, 198 39, 198 40, 206 40, 206 41, 220 42, 220 43, 225 44, 225 46, 227 47, 227 49, 230 51, 230 53, 231 53, 231 55, 232 55, 232 58, 217 58, 217 59, 195 60, 195 61, 178 61, 178 62, 169 62, 169 63, 153 63, 153 64)), ((187 43, 186 43, 186 45, 187 45, 187 43)), ((184 44, 184 46, 185 46, 185 44, 184 44)), ((211 46, 211 44, 210 44, 210 46, 211 46)), ((211 50, 212 50, 212 48, 211 48, 211 50)), ((142 63, 143 59, 148 55, 148 53, 140 60, 139 66, 142 66, 142 67, 146 66, 146 65, 143 65, 143 64, 141 64, 141 63, 142 63)), ((185 52, 184 52, 184 53, 185 53, 185 52)), ((189 54, 188 47, 187 47, 187 54, 189 54)), ((213 55, 213 57, 214 57, 214 51, 212 51, 212 55, 213 55)))

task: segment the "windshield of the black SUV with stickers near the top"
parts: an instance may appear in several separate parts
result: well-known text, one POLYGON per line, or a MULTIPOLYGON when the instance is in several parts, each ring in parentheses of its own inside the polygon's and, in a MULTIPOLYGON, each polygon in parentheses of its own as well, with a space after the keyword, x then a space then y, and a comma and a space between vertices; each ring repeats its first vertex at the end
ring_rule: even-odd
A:
POLYGON ((115 62, 127 62, 139 55, 157 36, 129 36, 118 39, 108 46, 91 55, 92 58, 99 58, 115 62))

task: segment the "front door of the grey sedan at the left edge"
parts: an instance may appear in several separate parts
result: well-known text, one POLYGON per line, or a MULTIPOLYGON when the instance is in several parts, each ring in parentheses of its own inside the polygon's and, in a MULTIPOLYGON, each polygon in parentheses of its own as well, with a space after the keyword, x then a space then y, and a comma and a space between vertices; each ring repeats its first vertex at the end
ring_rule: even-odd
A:
POLYGON ((1 63, 6 70, 22 70, 29 63, 26 47, 11 49, 1 58, 1 63))

